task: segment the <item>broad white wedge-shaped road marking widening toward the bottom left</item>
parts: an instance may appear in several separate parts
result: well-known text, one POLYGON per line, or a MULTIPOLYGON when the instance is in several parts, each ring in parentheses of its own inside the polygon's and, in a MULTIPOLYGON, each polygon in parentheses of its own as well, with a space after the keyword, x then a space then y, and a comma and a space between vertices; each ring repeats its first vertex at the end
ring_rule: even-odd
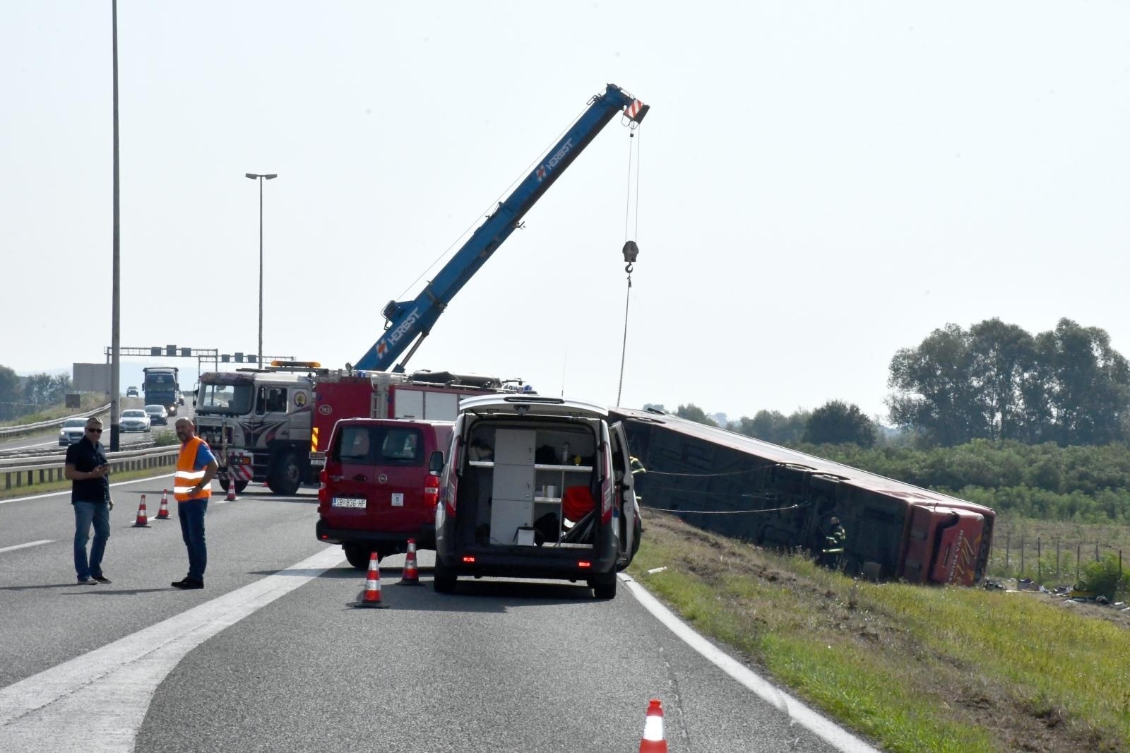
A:
POLYGON ((149 701, 193 648, 342 560, 331 547, 290 568, 0 689, 0 750, 133 751, 149 701))

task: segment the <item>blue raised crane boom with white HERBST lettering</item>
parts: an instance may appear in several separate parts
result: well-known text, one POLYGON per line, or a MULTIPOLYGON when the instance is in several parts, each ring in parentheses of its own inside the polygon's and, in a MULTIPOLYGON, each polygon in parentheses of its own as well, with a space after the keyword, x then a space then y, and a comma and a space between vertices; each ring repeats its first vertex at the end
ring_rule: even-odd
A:
POLYGON ((568 167, 581 150, 589 146, 597 133, 616 113, 623 112, 626 124, 635 128, 647 114, 645 105, 615 84, 589 99, 589 107, 573 123, 567 133, 554 146, 533 172, 498 205, 455 252, 435 278, 411 301, 390 301, 381 312, 385 329, 357 362, 356 369, 388 371, 401 353, 411 345, 403 361, 392 371, 402 372, 405 364, 432 331, 440 314, 475 272, 486 263, 503 241, 521 226, 522 217, 541 198, 554 181, 568 167))

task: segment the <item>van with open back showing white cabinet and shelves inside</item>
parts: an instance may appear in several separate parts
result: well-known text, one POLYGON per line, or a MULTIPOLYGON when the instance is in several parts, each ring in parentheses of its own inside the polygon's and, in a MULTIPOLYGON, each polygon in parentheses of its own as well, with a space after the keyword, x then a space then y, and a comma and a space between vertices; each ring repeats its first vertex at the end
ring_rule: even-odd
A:
POLYGON ((459 575, 554 578, 614 598, 641 525, 627 438, 607 418, 537 395, 461 400, 440 482, 435 590, 459 575))

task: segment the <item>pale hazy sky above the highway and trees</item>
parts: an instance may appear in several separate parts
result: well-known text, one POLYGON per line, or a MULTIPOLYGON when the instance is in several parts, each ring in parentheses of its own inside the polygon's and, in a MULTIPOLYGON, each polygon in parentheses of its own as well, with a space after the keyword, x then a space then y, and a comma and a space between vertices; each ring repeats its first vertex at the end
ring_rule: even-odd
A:
MULTIPOLYGON (((992 317, 1069 317, 1130 355, 1125 3, 121 0, 118 20, 123 346, 255 350, 244 173, 278 173, 264 350, 356 362, 615 83, 652 105, 638 217, 617 119, 410 367, 612 404, 626 224, 628 407, 885 414, 898 348, 992 317)), ((0 364, 20 373, 111 343, 111 61, 110 0, 5 3, 0 364)))

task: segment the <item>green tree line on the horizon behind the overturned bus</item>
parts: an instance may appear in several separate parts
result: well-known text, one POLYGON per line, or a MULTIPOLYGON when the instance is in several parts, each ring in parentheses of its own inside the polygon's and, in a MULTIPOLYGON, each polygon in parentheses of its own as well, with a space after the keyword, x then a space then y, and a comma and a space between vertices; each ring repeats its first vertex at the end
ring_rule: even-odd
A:
MULTIPOLYGON (((1012 440, 1062 447, 1130 439, 1130 363, 1106 330, 1060 319, 1032 335, 1000 319, 946 324, 890 361, 886 399, 899 443, 955 447, 1012 440)), ((677 415, 716 425, 704 410, 677 415)), ((832 400, 785 416, 760 410, 724 429, 775 444, 872 447, 881 427, 859 406, 832 400)))

